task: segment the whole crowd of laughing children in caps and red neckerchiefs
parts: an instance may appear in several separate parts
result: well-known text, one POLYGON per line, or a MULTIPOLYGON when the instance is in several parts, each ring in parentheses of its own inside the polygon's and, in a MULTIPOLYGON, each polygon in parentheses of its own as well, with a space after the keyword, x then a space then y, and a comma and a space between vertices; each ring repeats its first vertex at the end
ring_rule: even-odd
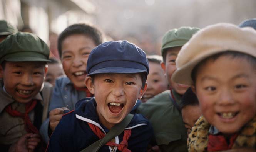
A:
POLYGON ((0 20, 1 152, 255 152, 256 19, 170 29, 162 56, 82 23, 57 48, 0 20))

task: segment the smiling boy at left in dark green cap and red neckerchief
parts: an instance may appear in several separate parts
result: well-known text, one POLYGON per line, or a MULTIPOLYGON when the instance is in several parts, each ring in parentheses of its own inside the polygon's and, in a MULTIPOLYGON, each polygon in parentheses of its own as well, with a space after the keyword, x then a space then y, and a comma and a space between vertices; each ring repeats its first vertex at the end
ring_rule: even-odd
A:
MULTIPOLYGON (((0 43, 0 149, 33 151, 40 143, 49 47, 35 34, 18 32, 0 43)), ((37 149, 36 149, 37 150, 37 149)))

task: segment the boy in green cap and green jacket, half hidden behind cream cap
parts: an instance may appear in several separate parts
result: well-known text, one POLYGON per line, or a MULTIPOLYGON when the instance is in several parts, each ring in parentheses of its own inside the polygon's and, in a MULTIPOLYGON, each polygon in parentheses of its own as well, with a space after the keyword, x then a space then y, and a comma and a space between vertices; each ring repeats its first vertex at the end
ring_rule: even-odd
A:
POLYGON ((199 28, 181 27, 168 31, 162 39, 161 53, 164 62, 161 64, 166 73, 170 90, 142 103, 138 113, 144 114, 152 123, 156 144, 162 152, 186 152, 187 131, 182 121, 180 99, 189 86, 174 83, 171 80, 176 70, 176 57, 181 47, 189 41, 199 28))

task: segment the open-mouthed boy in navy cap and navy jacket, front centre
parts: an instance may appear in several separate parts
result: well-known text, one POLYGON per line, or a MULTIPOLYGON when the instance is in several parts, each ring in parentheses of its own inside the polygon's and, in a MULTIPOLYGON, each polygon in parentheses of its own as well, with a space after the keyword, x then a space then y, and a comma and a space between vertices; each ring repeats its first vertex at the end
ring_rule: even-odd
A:
MULTIPOLYGON (((109 41, 95 47, 87 62, 85 84, 94 98, 76 104, 62 116, 47 151, 79 152, 105 136, 124 120, 147 88, 146 54, 128 41, 109 41)), ((99 152, 146 152, 153 137, 147 119, 134 114, 124 132, 99 152)))

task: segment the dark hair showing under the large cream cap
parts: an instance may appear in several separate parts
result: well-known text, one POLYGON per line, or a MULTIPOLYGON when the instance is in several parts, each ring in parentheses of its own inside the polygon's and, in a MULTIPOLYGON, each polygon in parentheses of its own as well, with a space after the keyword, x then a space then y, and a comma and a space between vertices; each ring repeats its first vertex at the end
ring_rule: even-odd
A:
POLYGON ((200 69, 200 67, 202 65, 204 65, 209 60, 216 61, 221 56, 230 56, 231 58, 246 59, 252 65, 252 67, 254 67, 255 70, 256 70, 256 57, 253 57, 249 54, 245 54, 245 53, 242 53, 242 52, 229 51, 228 50, 228 51, 220 52, 218 54, 214 54, 214 55, 212 55, 210 57, 207 57, 206 59, 202 60, 201 62, 199 62, 191 72, 191 78, 192 78, 194 84, 196 83, 196 76, 197 76, 197 73, 198 73, 198 70, 200 69))

